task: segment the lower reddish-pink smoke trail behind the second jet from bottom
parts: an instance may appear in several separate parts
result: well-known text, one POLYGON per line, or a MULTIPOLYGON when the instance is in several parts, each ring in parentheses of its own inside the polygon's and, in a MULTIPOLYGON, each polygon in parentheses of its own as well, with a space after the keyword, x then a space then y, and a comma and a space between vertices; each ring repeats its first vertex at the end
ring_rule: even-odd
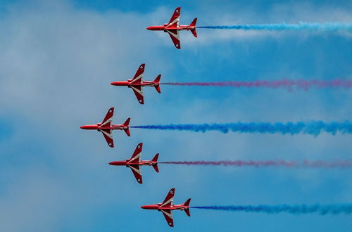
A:
POLYGON ((318 167, 318 168, 351 168, 352 160, 327 161, 310 161, 303 162, 284 161, 284 160, 267 160, 267 161, 245 161, 245 160, 221 160, 221 161, 171 161, 159 162, 160 164, 169 165, 207 165, 207 166, 234 166, 234 167, 318 167))

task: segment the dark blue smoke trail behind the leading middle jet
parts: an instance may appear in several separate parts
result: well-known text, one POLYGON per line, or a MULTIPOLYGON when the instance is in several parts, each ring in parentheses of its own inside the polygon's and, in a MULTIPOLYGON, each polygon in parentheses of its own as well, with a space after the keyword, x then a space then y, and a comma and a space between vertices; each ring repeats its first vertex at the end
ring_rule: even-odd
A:
POLYGON ((132 128, 141 129, 159 129, 159 130, 178 130, 178 131, 195 131, 195 132, 206 132, 206 131, 220 131, 224 134, 229 131, 241 132, 241 133, 269 133, 269 134, 311 134, 318 136, 322 131, 329 134, 336 134, 340 131, 342 134, 352 133, 352 123, 346 122, 260 122, 260 123, 225 123, 225 124, 168 124, 168 125, 146 125, 136 126, 132 128))

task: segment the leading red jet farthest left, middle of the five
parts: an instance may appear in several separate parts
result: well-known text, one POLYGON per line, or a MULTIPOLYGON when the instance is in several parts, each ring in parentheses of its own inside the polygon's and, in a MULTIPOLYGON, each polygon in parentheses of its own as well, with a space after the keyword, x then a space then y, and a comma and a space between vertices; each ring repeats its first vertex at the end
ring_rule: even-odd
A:
POLYGON ((103 133, 104 138, 106 139, 106 142, 108 143, 108 146, 110 146, 111 148, 113 148, 113 130, 114 129, 123 130, 126 132, 127 136, 131 136, 130 126, 129 126, 130 117, 126 120, 124 124, 115 125, 113 124, 113 110, 114 108, 110 108, 108 110, 103 122, 80 127, 81 129, 95 129, 97 131, 101 131, 101 133, 103 133))

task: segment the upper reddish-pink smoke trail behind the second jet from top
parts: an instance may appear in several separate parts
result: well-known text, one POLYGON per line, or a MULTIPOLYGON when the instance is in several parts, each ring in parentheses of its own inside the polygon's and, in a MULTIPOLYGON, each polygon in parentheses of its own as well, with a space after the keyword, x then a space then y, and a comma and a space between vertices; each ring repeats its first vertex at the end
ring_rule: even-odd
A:
POLYGON ((296 87, 297 89, 308 90, 311 87, 315 87, 317 89, 326 89, 326 88, 337 88, 341 87, 344 89, 350 89, 352 87, 352 79, 333 79, 330 81, 320 81, 320 80, 288 80, 283 79, 279 81, 253 81, 253 82, 169 82, 169 83, 161 83, 161 84, 169 84, 169 85, 179 85, 179 86, 230 86, 234 88, 254 88, 254 87, 265 87, 265 88, 286 88, 293 89, 296 87))

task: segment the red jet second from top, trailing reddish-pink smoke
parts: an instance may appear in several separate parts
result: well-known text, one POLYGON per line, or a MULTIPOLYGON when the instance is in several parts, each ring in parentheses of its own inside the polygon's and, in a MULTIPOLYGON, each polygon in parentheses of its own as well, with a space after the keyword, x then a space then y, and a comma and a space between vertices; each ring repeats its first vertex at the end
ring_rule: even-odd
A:
POLYGON ((144 75, 144 67, 146 64, 142 64, 139 66, 136 75, 134 75, 133 79, 128 79, 127 82, 111 82, 112 85, 115 86, 127 86, 128 88, 131 88, 134 92, 134 95, 136 95, 139 103, 144 104, 144 98, 143 98, 143 86, 153 86, 155 87, 156 91, 158 93, 161 93, 160 90, 160 78, 161 75, 159 74, 156 79, 153 80, 153 82, 144 82, 143 81, 143 75, 144 75))

